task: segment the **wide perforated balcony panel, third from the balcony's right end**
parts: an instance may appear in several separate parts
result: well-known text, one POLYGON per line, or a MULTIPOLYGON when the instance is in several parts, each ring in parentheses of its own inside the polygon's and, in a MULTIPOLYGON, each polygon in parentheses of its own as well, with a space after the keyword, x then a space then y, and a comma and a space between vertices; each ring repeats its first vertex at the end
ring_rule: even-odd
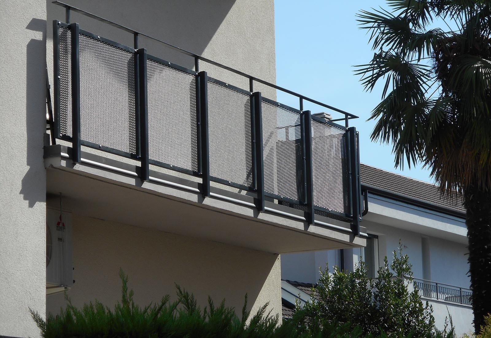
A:
POLYGON ((210 175, 253 186, 250 95, 208 81, 210 175))

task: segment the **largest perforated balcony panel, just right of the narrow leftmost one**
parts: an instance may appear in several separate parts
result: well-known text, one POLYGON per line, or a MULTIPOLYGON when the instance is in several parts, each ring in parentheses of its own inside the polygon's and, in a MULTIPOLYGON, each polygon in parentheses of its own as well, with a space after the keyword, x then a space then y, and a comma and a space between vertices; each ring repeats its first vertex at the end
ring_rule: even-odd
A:
POLYGON ((135 54, 80 34, 81 139, 136 154, 135 54))

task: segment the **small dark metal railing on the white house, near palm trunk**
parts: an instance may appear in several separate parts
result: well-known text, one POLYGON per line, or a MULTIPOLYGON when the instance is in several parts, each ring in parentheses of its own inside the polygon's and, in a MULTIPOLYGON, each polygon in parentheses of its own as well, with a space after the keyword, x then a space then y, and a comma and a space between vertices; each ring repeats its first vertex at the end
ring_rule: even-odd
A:
POLYGON ((417 278, 414 279, 414 287, 421 297, 472 305, 472 291, 464 287, 417 278))

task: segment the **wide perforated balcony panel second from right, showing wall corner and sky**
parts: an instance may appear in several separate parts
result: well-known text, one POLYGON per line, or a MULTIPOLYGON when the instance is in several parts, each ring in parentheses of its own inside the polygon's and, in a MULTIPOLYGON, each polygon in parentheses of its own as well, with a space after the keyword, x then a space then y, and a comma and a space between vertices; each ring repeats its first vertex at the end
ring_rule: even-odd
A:
POLYGON ((263 101, 264 190, 304 201, 300 113, 263 101))

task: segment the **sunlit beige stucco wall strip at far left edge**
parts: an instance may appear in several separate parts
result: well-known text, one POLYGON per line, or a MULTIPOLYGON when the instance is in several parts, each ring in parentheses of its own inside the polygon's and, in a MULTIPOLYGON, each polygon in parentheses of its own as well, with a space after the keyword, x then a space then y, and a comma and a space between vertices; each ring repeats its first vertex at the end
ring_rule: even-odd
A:
POLYGON ((46 4, 0 11, 0 336, 37 337, 45 313, 46 4))

